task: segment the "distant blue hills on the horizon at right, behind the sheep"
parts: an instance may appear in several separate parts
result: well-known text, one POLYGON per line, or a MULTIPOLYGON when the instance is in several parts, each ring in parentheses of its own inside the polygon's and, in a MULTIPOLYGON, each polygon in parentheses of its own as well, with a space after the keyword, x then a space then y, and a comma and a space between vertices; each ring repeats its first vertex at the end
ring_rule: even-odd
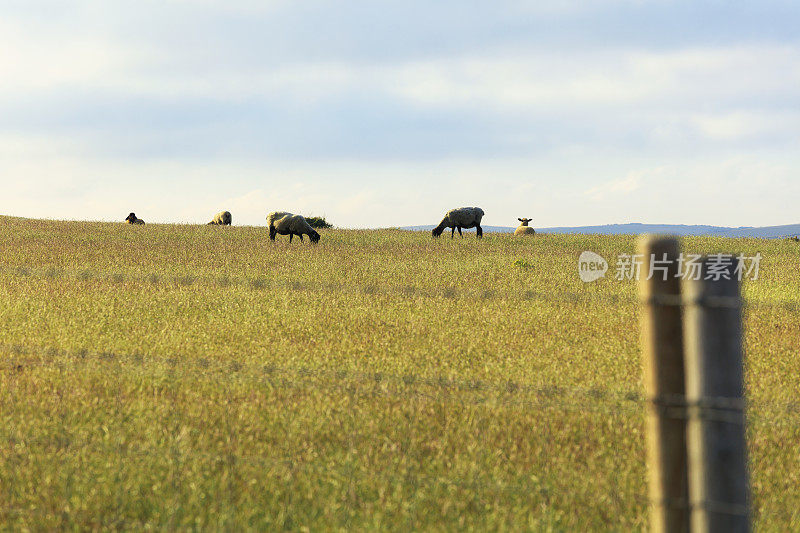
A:
MULTIPOLYGON (((400 229, 410 231, 430 231, 427 226, 406 226, 400 229)), ((483 226, 483 231, 496 233, 513 232, 510 226, 483 226)), ((671 235, 703 235, 717 237, 754 237, 760 239, 777 239, 800 235, 800 224, 786 226, 764 226, 761 228, 723 226, 687 226, 684 224, 607 224, 604 226, 575 226, 559 228, 535 228, 539 233, 583 233, 590 235, 638 235, 640 233, 665 233, 671 235)), ((474 230, 471 230, 474 231, 474 230)))

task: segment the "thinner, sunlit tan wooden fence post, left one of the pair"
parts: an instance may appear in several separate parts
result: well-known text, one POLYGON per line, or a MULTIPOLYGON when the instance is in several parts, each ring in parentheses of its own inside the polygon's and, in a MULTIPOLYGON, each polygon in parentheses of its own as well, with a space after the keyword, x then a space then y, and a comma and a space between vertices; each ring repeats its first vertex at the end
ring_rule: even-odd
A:
POLYGON ((639 292, 644 302, 650 528, 656 533, 685 532, 689 506, 678 240, 643 236, 638 253, 643 256, 639 292))

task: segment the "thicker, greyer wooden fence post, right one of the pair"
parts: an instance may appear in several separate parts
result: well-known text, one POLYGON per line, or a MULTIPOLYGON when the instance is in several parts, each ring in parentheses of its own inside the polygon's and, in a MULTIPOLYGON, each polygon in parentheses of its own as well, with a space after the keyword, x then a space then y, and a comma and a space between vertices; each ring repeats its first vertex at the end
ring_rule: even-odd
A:
POLYGON ((701 260, 686 283, 686 396, 691 527, 749 531, 742 314, 737 260, 701 260), (709 279, 706 279, 709 278, 709 279))

